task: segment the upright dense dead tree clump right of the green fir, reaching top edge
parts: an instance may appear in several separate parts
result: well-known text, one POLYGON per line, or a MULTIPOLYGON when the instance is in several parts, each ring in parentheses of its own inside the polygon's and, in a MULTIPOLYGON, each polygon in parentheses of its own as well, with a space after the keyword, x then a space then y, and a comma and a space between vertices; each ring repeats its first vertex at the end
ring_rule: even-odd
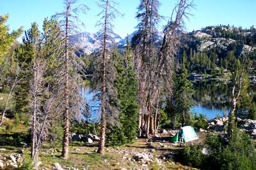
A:
MULTIPOLYGON (((154 46, 157 34, 157 23, 160 15, 158 13, 159 1, 157 0, 141 0, 138 7, 136 18, 140 21, 138 24, 138 32, 132 38, 132 47, 135 54, 136 70, 138 74, 138 104, 139 104, 139 136, 143 136, 143 132, 150 131, 150 120, 152 118, 151 108, 151 89, 152 67, 157 59, 157 50, 154 46)), ((153 123, 154 124, 154 123, 153 123)), ((152 129, 151 129, 152 132, 152 129)))

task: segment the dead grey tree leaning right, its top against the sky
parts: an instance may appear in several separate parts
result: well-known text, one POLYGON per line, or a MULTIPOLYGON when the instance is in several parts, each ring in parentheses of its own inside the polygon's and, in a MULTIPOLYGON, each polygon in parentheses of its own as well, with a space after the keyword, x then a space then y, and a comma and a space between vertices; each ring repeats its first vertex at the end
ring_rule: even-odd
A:
POLYGON ((180 0, 175 6, 172 15, 166 26, 164 27, 164 38, 160 48, 159 58, 157 61, 157 69, 154 72, 154 80, 152 85, 153 100, 157 100, 157 95, 165 89, 168 95, 172 95, 172 75, 173 60, 177 55, 180 45, 180 32, 184 27, 184 17, 190 15, 188 11, 193 8, 193 1, 180 0))

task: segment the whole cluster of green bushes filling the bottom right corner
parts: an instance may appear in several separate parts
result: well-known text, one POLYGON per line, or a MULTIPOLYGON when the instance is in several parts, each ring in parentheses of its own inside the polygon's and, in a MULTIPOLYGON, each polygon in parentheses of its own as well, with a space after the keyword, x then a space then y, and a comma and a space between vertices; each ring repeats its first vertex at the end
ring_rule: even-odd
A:
POLYGON ((202 147, 187 146, 180 153, 184 164, 202 169, 255 169, 256 151, 252 139, 245 132, 236 129, 230 141, 226 136, 212 135, 205 139, 207 155, 202 147))

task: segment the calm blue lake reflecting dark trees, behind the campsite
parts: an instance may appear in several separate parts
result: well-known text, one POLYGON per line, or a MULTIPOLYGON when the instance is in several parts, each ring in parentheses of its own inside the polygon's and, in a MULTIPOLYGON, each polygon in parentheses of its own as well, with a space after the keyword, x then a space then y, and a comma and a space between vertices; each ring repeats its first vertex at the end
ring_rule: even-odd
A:
MULTIPOLYGON (((228 115, 232 89, 228 83, 222 81, 202 81, 194 82, 193 84, 195 89, 195 94, 193 95, 195 106, 190 109, 191 113, 196 113, 197 115, 202 113, 207 118, 215 118, 216 115, 220 117, 228 115)), ((248 94, 256 96, 255 89, 255 87, 250 87, 248 94)), ((90 89, 81 89, 81 94, 85 96, 90 106, 91 118, 99 121, 100 113, 98 110, 100 102, 93 100, 93 93, 90 89)))

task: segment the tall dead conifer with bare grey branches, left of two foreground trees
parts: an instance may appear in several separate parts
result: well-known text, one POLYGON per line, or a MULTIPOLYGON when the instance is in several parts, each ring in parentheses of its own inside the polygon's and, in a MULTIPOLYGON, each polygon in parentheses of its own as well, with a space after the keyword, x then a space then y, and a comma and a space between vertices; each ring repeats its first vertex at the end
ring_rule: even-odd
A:
MULTIPOLYGON (((64 52, 63 52, 63 61, 64 61, 64 74, 63 78, 61 80, 64 82, 63 84, 63 98, 65 99, 64 110, 63 110, 63 142, 62 142, 62 154, 61 156, 65 159, 68 158, 68 143, 69 143, 69 128, 70 128, 70 103, 73 103, 72 101, 72 90, 76 87, 74 87, 74 80, 72 80, 72 73, 71 71, 77 71, 76 67, 74 67, 74 52, 70 50, 69 46, 69 36, 76 32, 77 25, 75 21, 78 20, 77 14, 79 12, 85 12, 88 8, 85 5, 79 5, 77 8, 73 8, 73 6, 76 4, 76 0, 65 0, 64 4, 66 6, 65 11, 61 13, 57 13, 54 15, 56 18, 61 18, 60 20, 60 26, 63 29, 64 34, 64 52), (72 55, 72 56, 71 56, 72 55)), ((79 67, 81 69, 81 67, 79 67)), ((76 92, 77 93, 77 92, 76 92)))

